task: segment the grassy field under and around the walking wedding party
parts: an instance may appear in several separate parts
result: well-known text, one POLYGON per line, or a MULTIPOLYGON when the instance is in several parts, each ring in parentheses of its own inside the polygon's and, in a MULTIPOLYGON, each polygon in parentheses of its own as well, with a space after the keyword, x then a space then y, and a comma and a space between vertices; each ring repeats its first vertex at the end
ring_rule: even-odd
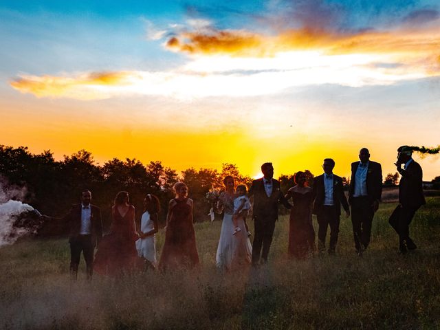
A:
MULTIPOLYGON (((407 255, 397 254, 388 225, 394 207, 381 204, 362 258, 343 217, 336 256, 287 260, 282 217, 270 263, 225 275, 214 260, 220 221, 196 224, 199 272, 96 276, 91 283, 85 274, 69 281, 67 239, 21 241, 0 249, 0 328, 440 329, 440 199, 417 212, 410 230, 419 249, 407 255)), ((163 241, 161 231, 158 255, 163 241)))

